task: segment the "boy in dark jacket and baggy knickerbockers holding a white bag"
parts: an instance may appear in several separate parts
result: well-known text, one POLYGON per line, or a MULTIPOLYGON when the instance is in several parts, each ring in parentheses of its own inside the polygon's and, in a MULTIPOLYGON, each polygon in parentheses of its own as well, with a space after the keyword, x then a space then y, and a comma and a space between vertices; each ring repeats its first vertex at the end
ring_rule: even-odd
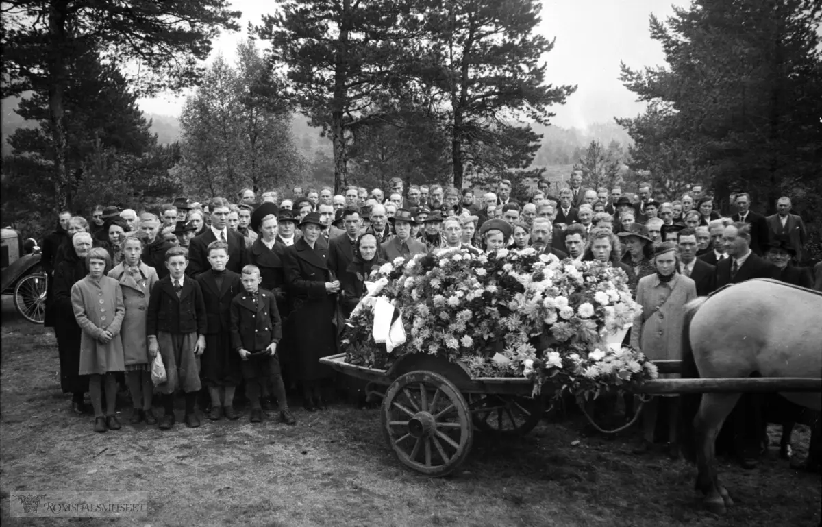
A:
POLYGON ((200 284, 186 276, 188 250, 172 247, 165 252, 169 275, 151 288, 145 333, 149 339, 152 360, 159 353, 168 380, 157 385, 165 413, 159 428, 172 428, 174 391, 182 388, 186 394, 186 424, 196 428, 196 396, 200 391, 200 355, 205 350, 207 319, 200 284))

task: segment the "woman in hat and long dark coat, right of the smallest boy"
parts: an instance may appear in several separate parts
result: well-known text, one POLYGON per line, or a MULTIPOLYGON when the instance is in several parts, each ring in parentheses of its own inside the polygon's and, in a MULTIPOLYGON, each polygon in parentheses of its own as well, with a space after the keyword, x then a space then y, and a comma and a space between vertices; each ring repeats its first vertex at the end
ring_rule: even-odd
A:
POLYGON ((339 281, 330 280, 326 260, 328 243, 321 238, 320 215, 308 213, 298 225, 302 238, 285 251, 283 270, 292 305, 289 331, 294 338, 297 378, 302 383, 305 408, 324 409, 321 383, 332 377, 331 370, 319 363, 334 354, 336 331, 335 297, 339 281))

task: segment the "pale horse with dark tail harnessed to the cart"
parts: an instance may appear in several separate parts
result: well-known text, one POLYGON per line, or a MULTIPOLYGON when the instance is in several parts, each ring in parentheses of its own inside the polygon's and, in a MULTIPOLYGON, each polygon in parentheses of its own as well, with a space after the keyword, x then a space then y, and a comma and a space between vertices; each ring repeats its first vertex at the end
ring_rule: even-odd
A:
MULTIPOLYGON (((820 377, 820 313, 822 294, 777 280, 746 280, 697 298, 686 305, 681 377, 820 377)), ((695 487, 703 492, 706 508, 719 514, 733 501, 719 483, 714 441, 740 395, 686 394, 681 399, 682 454, 697 465, 695 487)), ((822 409, 820 392, 780 395, 822 409)))

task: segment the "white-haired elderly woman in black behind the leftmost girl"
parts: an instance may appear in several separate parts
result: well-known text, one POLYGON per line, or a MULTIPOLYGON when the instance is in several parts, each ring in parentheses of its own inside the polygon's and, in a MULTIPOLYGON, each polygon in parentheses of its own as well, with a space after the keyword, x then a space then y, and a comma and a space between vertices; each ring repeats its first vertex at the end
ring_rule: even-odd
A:
POLYGON ((60 355, 60 386, 72 394, 72 410, 83 414, 83 395, 89 391, 89 377, 80 375, 81 329, 74 317, 72 286, 85 278, 85 255, 91 250, 90 233, 77 233, 54 270, 54 334, 60 355))

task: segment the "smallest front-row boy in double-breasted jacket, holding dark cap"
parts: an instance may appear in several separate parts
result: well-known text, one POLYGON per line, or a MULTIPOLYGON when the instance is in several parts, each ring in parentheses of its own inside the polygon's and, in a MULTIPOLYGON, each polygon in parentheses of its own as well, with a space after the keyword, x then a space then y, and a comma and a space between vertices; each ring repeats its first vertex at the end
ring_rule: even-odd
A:
POLYGON ((271 381, 279 404, 279 418, 283 423, 297 420, 285 399, 285 386, 279 368, 277 344, 283 337, 282 322, 274 294, 260 289, 260 269, 248 265, 242 268, 242 287, 245 292, 231 301, 231 344, 242 358, 242 378, 246 381, 246 395, 252 410, 249 420, 260 423, 261 392, 271 381))

